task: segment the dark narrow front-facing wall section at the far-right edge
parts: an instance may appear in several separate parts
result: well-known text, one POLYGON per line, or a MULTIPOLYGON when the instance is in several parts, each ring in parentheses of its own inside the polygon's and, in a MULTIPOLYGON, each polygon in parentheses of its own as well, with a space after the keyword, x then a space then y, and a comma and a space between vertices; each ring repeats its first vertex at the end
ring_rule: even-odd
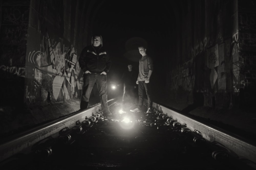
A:
POLYGON ((256 1, 238 1, 239 60, 233 67, 240 70, 234 79, 240 106, 248 108, 256 101, 256 1))

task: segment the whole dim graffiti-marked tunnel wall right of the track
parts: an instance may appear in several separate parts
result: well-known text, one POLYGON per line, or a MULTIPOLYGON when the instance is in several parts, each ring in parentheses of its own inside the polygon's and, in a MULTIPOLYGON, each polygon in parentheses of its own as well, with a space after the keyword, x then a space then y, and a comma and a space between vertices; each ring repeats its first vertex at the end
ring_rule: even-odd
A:
POLYGON ((177 41, 170 44, 174 57, 166 76, 169 95, 178 102, 211 107, 255 101, 255 95, 246 95, 255 94, 252 1, 188 3, 176 12, 176 29, 170 34, 177 41))

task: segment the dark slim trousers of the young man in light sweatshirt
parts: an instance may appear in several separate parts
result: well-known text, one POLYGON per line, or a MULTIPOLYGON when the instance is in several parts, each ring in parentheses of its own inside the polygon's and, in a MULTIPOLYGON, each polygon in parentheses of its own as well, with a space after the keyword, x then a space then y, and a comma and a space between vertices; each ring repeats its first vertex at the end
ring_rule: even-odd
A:
POLYGON ((145 81, 139 81, 138 85, 138 93, 139 93, 139 102, 138 102, 138 108, 142 108, 143 105, 143 99, 144 99, 144 93, 146 91, 147 94, 147 106, 148 108, 152 109, 152 96, 151 96, 151 83, 145 83, 145 81))

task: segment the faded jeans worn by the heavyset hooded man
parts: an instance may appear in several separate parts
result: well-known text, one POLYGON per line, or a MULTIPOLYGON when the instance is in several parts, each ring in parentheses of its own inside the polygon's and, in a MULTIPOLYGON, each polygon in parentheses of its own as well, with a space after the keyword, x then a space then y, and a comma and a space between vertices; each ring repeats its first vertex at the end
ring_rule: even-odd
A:
MULTIPOLYGON (((81 103, 89 102, 92 88, 94 84, 99 91, 101 109, 104 113, 109 112, 108 99, 107 99, 107 75, 99 73, 86 73, 83 77, 83 94, 81 103)), ((80 106, 81 108, 81 106, 80 106)))

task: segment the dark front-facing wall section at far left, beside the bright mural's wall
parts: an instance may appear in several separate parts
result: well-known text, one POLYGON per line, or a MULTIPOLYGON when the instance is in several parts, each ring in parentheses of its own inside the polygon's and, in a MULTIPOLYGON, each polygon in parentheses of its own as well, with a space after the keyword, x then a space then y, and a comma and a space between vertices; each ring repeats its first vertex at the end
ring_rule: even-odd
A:
POLYGON ((29 0, 0 2, 0 105, 23 103, 29 0))

